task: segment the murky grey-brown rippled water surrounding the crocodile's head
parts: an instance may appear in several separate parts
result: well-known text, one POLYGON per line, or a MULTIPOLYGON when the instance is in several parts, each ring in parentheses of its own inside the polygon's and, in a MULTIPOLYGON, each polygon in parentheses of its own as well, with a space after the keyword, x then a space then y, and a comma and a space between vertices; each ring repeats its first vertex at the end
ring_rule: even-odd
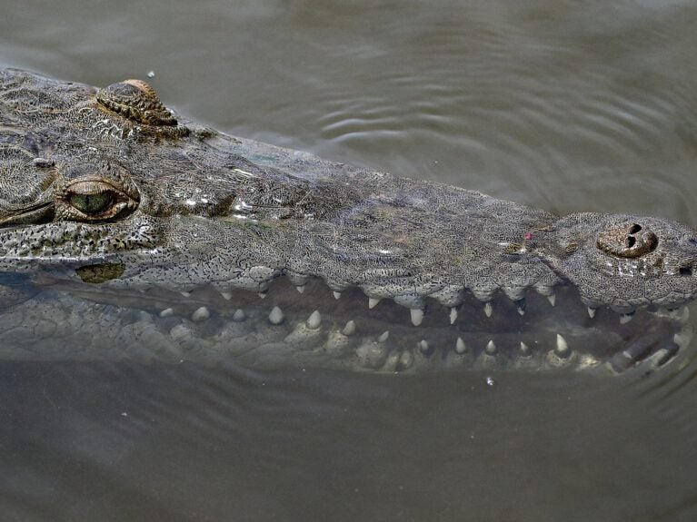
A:
MULTIPOLYGON (((5 2, 0 64, 557 213, 697 225, 693 2, 5 2)), ((3 520, 697 517, 655 379, 0 363, 3 520)))

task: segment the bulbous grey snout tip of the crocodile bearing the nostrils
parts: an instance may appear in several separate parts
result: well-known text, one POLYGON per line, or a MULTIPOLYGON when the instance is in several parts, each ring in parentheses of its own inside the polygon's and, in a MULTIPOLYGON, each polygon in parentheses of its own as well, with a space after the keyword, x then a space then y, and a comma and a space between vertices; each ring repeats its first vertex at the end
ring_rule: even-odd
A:
POLYGON ((674 310, 697 298, 697 231, 629 214, 572 214, 533 250, 591 308, 674 310))

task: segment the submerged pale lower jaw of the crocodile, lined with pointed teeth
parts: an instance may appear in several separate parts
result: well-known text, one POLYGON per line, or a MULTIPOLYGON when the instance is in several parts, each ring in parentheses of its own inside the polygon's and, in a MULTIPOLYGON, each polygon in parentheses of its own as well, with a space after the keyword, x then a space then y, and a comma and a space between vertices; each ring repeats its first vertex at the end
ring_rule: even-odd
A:
POLYGON ((692 338, 686 311, 639 310, 622 324, 612 310, 590 318, 573 288, 557 291, 556 306, 536 294, 527 301, 521 315, 497 296, 488 315, 472 298, 453 324, 451 310, 433 301, 413 326, 409 310, 391 300, 371 310, 363 292, 344 291, 335 300, 321 281, 311 281, 303 293, 277 281, 264 299, 248 291, 224 297, 211 287, 182 295, 53 281, 35 297, 0 310, 0 358, 619 373, 637 365, 659 368, 692 338))

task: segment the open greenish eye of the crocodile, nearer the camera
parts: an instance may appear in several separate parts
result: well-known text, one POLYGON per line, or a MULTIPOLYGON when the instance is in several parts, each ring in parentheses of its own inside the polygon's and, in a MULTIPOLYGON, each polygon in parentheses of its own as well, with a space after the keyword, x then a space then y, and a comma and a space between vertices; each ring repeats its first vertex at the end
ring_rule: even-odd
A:
POLYGON ((124 191, 95 180, 77 180, 66 185, 56 203, 56 218, 74 222, 115 220, 138 206, 124 191))

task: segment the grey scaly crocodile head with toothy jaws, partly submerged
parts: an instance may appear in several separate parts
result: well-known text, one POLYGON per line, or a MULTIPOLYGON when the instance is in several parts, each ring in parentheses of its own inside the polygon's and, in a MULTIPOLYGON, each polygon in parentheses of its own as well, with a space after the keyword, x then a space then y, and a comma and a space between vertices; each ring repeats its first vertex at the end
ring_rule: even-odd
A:
POLYGON ((654 369, 697 232, 235 138, 152 86, 0 72, 0 358, 654 369))

